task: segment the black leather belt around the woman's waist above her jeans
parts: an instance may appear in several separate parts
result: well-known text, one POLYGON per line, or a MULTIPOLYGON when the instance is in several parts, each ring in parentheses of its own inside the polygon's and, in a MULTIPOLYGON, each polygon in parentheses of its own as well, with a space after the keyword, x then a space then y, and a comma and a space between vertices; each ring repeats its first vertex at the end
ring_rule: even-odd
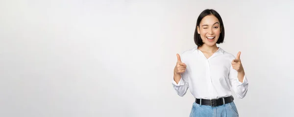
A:
POLYGON ((233 96, 218 98, 218 99, 198 99, 196 98, 195 102, 200 105, 209 105, 209 106, 220 106, 223 104, 230 103, 234 100, 233 96), (201 102, 200 102, 201 100, 201 102))

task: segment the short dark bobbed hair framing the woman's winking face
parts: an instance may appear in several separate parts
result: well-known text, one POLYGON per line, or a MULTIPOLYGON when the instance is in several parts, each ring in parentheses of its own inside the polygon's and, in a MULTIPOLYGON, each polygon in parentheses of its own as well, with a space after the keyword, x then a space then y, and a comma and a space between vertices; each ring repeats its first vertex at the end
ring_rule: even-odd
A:
MULTIPOLYGON (((213 9, 205 9, 204 11, 202 11, 197 19, 197 23, 196 23, 196 28, 195 28, 195 33, 194 33, 194 42, 197 46, 201 46, 203 45, 203 41, 200 37, 200 34, 197 33, 197 26, 200 25, 200 21, 205 17, 205 16, 208 16, 208 15, 214 15, 219 21, 220 21, 220 25, 221 25, 221 34, 220 34, 220 37, 217 41, 218 44, 222 43, 223 42, 223 39, 224 39, 224 26, 223 26, 223 22, 221 20, 221 16, 220 14, 213 10, 213 9)), ((200 27, 199 27, 200 28, 200 27)))

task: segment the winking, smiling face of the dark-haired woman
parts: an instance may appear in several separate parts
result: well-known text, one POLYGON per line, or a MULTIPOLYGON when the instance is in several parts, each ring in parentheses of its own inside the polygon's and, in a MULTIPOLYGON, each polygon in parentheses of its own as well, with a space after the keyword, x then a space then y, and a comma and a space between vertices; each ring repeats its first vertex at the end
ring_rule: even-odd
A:
POLYGON ((204 44, 216 45, 221 34, 220 21, 214 15, 205 16, 197 26, 197 33, 200 34, 204 44))

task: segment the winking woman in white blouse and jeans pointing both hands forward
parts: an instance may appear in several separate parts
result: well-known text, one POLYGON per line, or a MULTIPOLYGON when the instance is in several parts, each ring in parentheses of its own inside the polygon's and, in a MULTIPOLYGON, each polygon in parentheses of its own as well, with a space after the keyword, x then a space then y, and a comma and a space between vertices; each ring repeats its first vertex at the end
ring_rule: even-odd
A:
POLYGON ((196 98, 190 117, 239 117, 231 89, 244 98, 248 81, 240 60, 217 46, 223 42, 221 16, 212 9, 198 17, 194 35, 196 47, 180 56, 174 67, 173 87, 179 96, 187 89, 196 98))

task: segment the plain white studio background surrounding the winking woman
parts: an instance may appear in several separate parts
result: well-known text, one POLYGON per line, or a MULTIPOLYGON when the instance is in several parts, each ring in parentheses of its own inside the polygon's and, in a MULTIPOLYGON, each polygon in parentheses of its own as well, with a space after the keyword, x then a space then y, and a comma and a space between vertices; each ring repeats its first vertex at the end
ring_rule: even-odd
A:
POLYGON ((249 81, 240 117, 294 114, 294 1, 1 0, 0 117, 188 117, 172 87, 206 8, 249 81))

